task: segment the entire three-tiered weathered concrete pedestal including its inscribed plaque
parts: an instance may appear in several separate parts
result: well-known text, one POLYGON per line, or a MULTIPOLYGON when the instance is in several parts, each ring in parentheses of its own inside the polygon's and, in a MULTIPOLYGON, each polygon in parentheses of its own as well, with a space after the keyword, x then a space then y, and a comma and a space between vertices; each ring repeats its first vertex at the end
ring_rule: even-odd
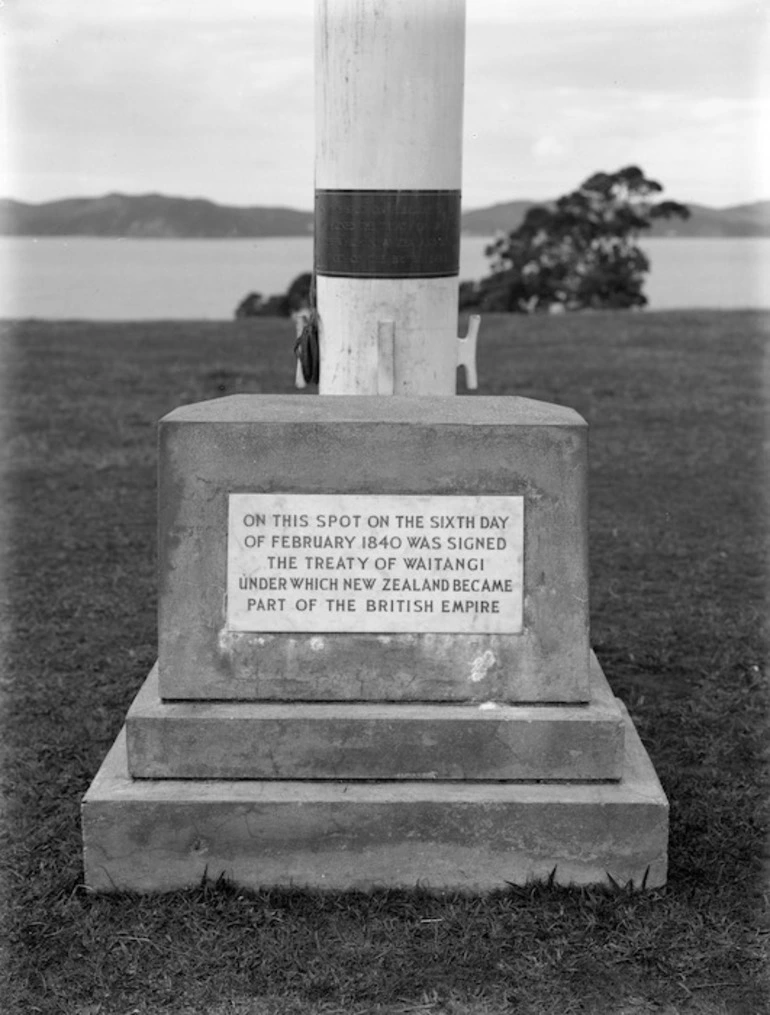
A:
POLYGON ((589 650, 586 463, 528 399, 162 420, 158 665, 83 800, 86 885, 662 884, 668 803, 589 650))

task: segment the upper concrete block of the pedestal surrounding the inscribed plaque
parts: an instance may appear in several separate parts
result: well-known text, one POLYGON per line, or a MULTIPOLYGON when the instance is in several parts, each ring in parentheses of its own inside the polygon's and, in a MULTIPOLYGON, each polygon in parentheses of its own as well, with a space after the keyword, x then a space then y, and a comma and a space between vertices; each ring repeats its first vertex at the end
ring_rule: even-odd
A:
POLYGON ((585 701, 587 426, 523 398, 235 395, 159 431, 159 682, 169 699, 585 701), (225 626, 230 492, 524 498, 519 634, 225 626))

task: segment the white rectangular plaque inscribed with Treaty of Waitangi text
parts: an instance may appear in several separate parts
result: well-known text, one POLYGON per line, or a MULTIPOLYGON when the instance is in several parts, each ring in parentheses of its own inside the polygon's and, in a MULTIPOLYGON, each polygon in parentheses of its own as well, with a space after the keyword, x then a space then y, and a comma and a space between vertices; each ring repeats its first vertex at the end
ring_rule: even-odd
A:
POLYGON ((523 498, 231 493, 227 627, 516 634, 523 498))

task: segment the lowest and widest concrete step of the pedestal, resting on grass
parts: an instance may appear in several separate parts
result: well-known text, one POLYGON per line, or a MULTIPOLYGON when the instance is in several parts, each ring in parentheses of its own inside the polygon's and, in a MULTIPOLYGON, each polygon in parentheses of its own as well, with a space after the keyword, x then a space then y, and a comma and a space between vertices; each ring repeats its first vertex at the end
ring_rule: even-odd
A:
POLYGON ((483 891, 555 868, 560 884, 660 885, 668 803, 627 718, 625 740, 610 784, 145 781, 121 733, 83 801, 85 883, 483 891))

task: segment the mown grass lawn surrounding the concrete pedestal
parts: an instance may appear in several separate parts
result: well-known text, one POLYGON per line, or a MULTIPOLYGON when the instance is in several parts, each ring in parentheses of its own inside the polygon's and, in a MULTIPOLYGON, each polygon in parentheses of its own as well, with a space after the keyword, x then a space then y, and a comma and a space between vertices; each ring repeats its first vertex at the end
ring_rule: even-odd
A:
POLYGON ((488 897, 84 891, 80 798, 155 658, 156 421, 291 391, 292 328, 2 328, 4 1015, 770 1010, 770 315, 482 322, 481 393, 591 425, 592 642, 672 820, 663 889, 488 897))

